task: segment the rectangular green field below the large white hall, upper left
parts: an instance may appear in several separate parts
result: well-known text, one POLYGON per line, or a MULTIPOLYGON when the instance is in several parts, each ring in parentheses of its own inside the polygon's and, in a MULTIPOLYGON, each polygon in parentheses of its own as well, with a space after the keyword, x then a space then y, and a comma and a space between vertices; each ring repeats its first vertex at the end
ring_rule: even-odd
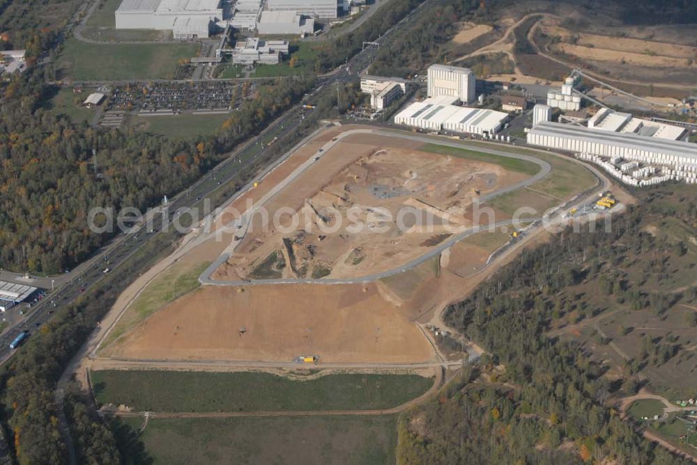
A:
POLYGON ((57 67, 76 81, 172 79, 178 61, 197 50, 194 44, 93 45, 70 38, 57 67))

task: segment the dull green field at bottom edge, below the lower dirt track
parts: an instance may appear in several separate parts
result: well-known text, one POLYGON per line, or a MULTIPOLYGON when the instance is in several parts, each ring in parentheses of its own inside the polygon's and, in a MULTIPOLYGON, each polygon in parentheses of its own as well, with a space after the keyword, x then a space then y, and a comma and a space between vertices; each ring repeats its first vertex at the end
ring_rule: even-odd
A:
POLYGON ((139 463, 394 464, 397 418, 153 418, 138 439, 139 463))

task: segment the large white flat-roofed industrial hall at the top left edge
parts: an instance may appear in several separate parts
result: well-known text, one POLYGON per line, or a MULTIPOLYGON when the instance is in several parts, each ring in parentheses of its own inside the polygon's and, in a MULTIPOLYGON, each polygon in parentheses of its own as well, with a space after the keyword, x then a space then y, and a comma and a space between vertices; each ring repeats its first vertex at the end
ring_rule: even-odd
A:
POLYGON ((123 0, 116 29, 170 30, 176 39, 207 38, 223 19, 221 0, 123 0))

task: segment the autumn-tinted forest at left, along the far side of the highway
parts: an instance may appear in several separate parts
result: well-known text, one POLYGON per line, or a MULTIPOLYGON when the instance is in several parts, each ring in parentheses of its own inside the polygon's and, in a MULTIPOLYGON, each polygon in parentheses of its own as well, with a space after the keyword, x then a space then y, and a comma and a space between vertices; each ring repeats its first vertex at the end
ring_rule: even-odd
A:
POLYGON ((41 108, 46 89, 40 70, 15 76, 0 88, 1 266, 45 273, 73 267, 108 239, 87 228, 92 207, 155 205, 213 167, 313 84, 312 78, 279 79, 232 113, 217 136, 172 141, 58 119, 41 108))

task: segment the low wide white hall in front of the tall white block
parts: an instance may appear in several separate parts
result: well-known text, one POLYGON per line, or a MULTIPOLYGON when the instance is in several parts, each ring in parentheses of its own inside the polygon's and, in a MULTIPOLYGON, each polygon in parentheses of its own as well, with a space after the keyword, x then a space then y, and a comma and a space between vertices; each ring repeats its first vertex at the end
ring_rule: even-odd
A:
POLYGON ((431 131, 445 129, 462 134, 493 136, 507 120, 507 113, 488 109, 458 107, 456 97, 428 98, 415 102, 395 116, 395 123, 431 131))

